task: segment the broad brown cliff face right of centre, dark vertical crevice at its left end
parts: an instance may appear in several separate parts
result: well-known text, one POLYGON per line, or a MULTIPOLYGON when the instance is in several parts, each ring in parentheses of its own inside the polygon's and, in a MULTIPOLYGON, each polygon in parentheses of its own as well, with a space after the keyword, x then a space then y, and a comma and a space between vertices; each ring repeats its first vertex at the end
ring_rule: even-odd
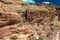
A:
MULTIPOLYGON (((32 6, 32 5, 31 5, 32 6)), ((45 6, 39 5, 32 9, 26 10, 26 19, 31 23, 40 23, 40 22, 48 22, 50 19, 54 18, 57 15, 57 10, 55 6, 45 6)))

